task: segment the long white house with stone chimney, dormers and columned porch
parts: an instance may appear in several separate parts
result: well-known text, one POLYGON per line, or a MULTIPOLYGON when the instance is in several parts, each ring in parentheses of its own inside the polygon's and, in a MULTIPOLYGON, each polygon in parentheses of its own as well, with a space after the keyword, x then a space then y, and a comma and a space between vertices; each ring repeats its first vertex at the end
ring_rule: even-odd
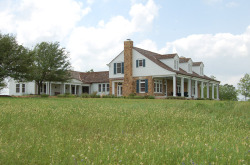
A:
MULTIPOLYGON (((194 62, 178 54, 158 54, 133 46, 133 41, 124 41, 124 50, 109 64, 109 71, 71 71, 69 82, 45 82, 41 93, 58 95, 97 92, 99 95, 128 96, 182 96, 187 98, 219 99, 219 81, 204 74, 203 62, 194 62), (204 85, 207 96, 204 96, 204 85), (216 96, 215 94, 216 90, 216 96)), ((10 81, 10 95, 37 94, 35 82, 10 81)))

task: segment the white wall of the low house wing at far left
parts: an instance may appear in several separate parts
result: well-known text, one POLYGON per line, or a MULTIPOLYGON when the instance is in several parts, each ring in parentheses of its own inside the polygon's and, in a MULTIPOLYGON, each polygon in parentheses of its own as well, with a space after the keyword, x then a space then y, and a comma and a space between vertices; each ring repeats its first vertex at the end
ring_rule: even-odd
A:
POLYGON ((13 79, 9 81, 9 95, 21 96, 35 94, 35 82, 17 82, 13 79), (20 84, 20 92, 16 93, 16 84, 20 84), (25 84, 25 92, 22 93, 22 84, 25 84))

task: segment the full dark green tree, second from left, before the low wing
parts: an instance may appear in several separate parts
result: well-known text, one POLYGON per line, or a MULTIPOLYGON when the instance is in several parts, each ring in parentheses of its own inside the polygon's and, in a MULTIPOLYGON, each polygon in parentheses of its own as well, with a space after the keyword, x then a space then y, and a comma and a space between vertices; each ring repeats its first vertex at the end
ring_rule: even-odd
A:
POLYGON ((65 82, 70 79, 71 65, 69 53, 61 48, 59 42, 42 42, 32 51, 34 65, 32 79, 38 85, 38 95, 44 81, 65 82))

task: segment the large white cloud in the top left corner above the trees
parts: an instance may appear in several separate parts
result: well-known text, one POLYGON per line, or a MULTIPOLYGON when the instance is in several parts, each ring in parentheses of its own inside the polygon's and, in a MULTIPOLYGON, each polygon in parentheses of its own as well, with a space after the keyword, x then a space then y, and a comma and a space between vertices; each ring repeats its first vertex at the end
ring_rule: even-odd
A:
POLYGON ((62 41, 91 9, 74 0, 9 1, 0 12, 0 29, 17 34, 20 43, 62 41))

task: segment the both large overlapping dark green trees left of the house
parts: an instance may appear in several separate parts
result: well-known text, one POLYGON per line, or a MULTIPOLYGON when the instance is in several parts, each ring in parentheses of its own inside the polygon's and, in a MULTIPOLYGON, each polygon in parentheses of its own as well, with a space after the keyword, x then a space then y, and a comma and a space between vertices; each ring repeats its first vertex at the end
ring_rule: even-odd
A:
POLYGON ((29 49, 18 44, 14 35, 0 33, 0 90, 11 77, 35 81, 40 95, 43 82, 65 82, 70 79, 69 70, 69 52, 59 42, 41 42, 29 49))

